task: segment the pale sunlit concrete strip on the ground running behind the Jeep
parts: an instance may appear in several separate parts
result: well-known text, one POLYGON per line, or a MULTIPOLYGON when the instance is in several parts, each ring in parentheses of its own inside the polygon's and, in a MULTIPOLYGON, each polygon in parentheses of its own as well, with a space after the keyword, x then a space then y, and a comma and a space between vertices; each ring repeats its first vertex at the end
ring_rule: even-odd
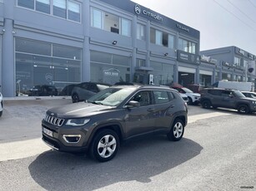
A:
MULTIPOLYGON (((218 117, 222 115, 230 114, 213 112, 209 114, 192 115, 188 116, 188 124, 196 122, 198 120, 205 120, 208 118, 218 117)), ((49 149, 51 148, 48 147, 48 145, 44 144, 41 138, 2 143, 0 144, 0 161, 7 161, 11 159, 24 159, 37 154, 42 154, 49 149)))

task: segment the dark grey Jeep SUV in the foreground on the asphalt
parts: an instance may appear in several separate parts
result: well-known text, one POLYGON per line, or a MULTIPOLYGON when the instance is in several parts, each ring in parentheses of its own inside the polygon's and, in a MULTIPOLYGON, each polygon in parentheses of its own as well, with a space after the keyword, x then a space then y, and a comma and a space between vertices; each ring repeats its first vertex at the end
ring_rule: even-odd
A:
POLYGON ((86 152, 104 162, 119 145, 143 135, 181 140, 187 104, 163 86, 112 86, 87 102, 50 109, 42 120, 43 141, 53 149, 86 152))

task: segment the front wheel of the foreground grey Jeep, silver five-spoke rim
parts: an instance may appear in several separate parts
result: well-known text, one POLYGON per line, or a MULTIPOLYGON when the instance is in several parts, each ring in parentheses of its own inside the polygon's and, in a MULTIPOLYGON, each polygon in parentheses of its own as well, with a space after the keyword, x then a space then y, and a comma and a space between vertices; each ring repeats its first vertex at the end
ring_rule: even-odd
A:
POLYGON ((113 159, 120 147, 118 134, 113 130, 101 130, 93 138, 90 155, 99 162, 113 159))

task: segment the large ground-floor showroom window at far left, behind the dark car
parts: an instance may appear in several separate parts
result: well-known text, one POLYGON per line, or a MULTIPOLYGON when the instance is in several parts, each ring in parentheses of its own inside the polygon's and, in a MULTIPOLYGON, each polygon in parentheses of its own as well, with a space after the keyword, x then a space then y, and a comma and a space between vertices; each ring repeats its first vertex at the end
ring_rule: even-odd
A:
POLYGON ((64 86, 81 81, 82 49, 22 38, 16 38, 15 44, 18 93, 34 96, 31 89, 41 85, 55 86, 59 92, 64 86))

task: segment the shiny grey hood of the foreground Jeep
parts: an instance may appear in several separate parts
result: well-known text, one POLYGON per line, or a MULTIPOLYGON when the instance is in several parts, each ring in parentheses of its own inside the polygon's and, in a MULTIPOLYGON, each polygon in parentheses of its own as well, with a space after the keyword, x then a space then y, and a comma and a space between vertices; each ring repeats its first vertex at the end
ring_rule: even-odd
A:
POLYGON ((78 102, 61 107, 55 107, 47 111, 48 115, 59 118, 79 118, 95 115, 99 112, 113 109, 113 106, 97 105, 92 103, 78 102))

